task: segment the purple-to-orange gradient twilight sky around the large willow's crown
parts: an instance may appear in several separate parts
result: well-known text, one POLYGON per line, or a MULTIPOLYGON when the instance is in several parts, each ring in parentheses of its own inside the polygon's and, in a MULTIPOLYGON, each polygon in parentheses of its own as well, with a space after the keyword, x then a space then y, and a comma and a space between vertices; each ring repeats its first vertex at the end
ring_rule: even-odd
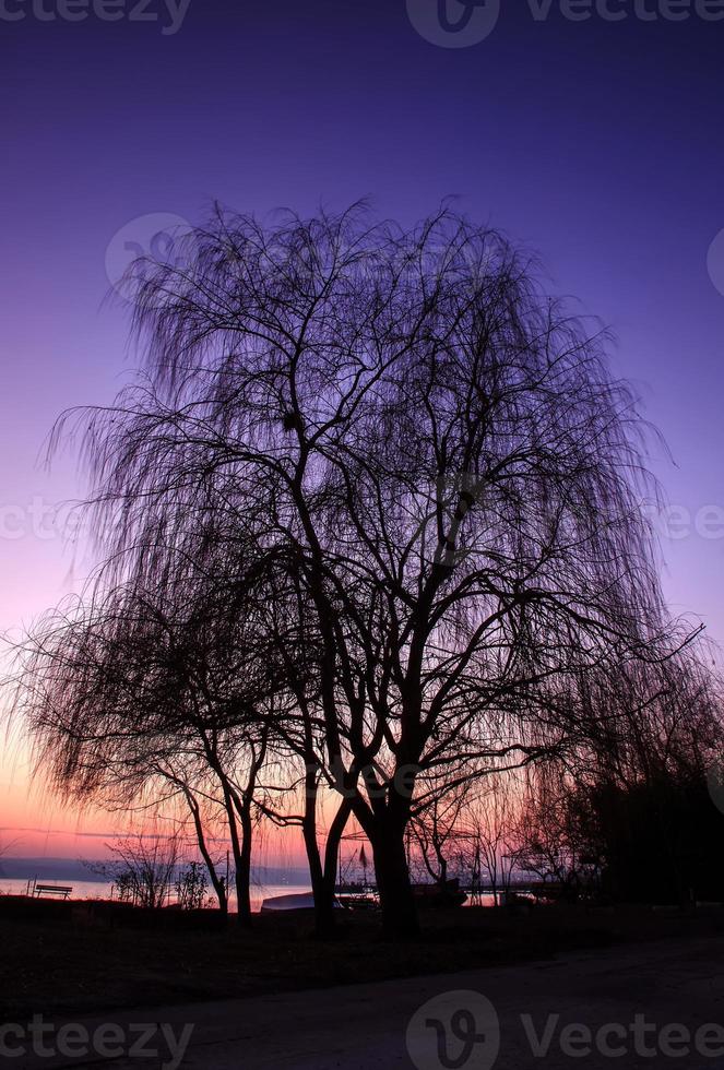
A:
MULTIPOLYGON (((123 308, 104 304, 121 227, 143 242, 133 221, 194 222, 213 199, 263 215, 363 195, 412 223, 454 194, 615 331, 616 369, 675 462, 653 459, 677 510, 667 594, 724 639, 724 239, 708 271, 724 229, 724 22, 571 22, 555 2, 535 21, 502 0, 487 39, 443 48, 405 0, 190 0, 175 35, 165 0, 150 8, 162 22, 8 11, 25 17, 0 14, 1 629, 87 571, 83 546, 37 520, 82 495, 75 462, 48 473, 38 456, 63 407, 109 401, 132 367, 123 308)), ((94 828, 28 795, 17 749, 0 763, 0 825, 94 828)))

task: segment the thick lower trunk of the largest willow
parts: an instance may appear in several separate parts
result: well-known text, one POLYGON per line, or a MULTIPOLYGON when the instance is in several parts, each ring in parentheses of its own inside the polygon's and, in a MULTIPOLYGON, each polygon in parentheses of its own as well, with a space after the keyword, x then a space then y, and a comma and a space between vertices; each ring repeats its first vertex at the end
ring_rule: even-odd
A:
POLYGON ((405 854, 405 825, 389 821, 378 823, 371 842, 383 936, 389 940, 416 937, 419 922, 405 854))

